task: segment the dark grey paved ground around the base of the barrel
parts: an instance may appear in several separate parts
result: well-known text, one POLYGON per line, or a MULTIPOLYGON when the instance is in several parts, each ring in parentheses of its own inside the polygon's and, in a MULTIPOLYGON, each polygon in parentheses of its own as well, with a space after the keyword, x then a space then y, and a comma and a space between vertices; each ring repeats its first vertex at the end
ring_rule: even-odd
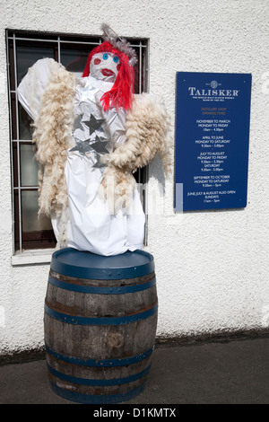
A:
MULTIPOLYGON (((46 361, 0 366, 0 404, 72 404, 46 361)), ((128 404, 269 404, 269 338, 156 347, 147 388, 128 404)))

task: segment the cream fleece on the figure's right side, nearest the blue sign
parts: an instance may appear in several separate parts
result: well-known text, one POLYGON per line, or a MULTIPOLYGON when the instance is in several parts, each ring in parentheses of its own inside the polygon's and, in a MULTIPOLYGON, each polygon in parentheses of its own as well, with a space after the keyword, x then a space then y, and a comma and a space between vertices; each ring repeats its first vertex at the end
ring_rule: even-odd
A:
POLYGON ((100 193, 108 200, 110 212, 131 207, 135 180, 132 173, 152 161, 162 159, 166 173, 170 171, 169 115, 162 101, 148 93, 134 95, 132 110, 126 115, 126 142, 101 158, 108 167, 104 171, 100 193))

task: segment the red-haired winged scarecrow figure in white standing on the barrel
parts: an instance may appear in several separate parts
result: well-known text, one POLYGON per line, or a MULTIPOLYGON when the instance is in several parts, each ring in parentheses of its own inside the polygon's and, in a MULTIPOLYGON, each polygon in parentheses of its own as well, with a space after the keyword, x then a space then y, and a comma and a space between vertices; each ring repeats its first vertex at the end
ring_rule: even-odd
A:
POLYGON ((44 58, 18 96, 34 121, 39 214, 50 216, 57 247, 108 256, 143 249, 133 172, 155 154, 169 170, 169 118, 152 95, 134 95, 134 49, 102 30, 82 77, 44 58))

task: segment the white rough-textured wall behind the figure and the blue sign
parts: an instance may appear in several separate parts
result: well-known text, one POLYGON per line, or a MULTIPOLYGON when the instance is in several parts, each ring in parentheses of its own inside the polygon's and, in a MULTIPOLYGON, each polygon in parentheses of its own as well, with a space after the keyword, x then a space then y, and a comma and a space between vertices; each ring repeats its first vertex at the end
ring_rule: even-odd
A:
MULTIPOLYGON (((268 0, 2 0, 0 12, 0 353, 43 345, 49 268, 25 264, 42 262, 39 255, 12 257, 6 28, 94 34, 108 22, 124 36, 149 38, 151 92, 164 97, 172 122, 177 71, 252 73, 247 208, 174 215, 171 176, 157 197, 164 214, 149 216, 147 251, 158 277, 158 335, 267 328, 268 0)), ((157 160, 150 176, 151 195, 162 179, 157 160)))

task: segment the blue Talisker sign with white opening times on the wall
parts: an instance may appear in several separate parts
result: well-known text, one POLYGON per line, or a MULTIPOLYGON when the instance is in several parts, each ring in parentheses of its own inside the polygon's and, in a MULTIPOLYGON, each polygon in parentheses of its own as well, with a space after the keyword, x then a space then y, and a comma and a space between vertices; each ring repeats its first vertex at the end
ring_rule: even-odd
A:
POLYGON ((177 73, 175 209, 247 206, 251 75, 177 73))

